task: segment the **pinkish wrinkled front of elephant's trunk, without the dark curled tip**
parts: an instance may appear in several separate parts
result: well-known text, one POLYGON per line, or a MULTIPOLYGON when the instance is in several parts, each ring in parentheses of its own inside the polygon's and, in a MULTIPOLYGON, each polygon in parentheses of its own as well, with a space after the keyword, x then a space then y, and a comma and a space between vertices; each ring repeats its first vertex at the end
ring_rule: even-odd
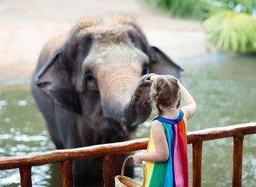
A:
POLYGON ((98 75, 98 80, 105 80, 99 81, 103 115, 119 123, 127 124, 125 112, 130 105, 139 77, 120 70, 110 74, 103 74, 99 71, 98 75))

